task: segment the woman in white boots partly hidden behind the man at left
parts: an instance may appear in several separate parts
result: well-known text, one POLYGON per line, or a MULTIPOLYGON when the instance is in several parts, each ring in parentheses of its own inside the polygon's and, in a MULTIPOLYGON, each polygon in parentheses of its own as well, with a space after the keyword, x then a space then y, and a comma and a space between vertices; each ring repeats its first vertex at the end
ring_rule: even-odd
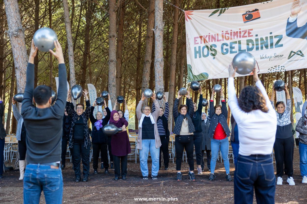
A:
POLYGON ((24 170, 25 170, 25 153, 27 152, 27 145, 25 143, 25 138, 26 138, 25 125, 23 124, 23 118, 19 113, 14 98, 12 99, 12 105, 13 105, 12 106, 13 114, 17 120, 16 138, 18 140, 18 153, 19 153, 19 172, 20 172, 19 180, 23 180, 24 170))

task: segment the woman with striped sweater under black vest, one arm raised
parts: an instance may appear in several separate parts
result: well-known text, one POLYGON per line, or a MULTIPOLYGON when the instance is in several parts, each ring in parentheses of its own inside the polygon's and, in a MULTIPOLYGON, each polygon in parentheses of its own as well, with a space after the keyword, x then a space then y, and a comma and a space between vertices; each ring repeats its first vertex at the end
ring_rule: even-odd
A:
MULTIPOLYGON (((166 96, 163 94, 163 99, 165 101, 165 111, 160 107, 160 114, 157 118, 157 127, 161 140, 160 154, 159 154, 159 169, 161 169, 161 152, 163 152, 164 170, 169 169, 169 103, 167 102, 166 96)), ((152 112, 156 110, 154 104, 152 105, 152 112)))

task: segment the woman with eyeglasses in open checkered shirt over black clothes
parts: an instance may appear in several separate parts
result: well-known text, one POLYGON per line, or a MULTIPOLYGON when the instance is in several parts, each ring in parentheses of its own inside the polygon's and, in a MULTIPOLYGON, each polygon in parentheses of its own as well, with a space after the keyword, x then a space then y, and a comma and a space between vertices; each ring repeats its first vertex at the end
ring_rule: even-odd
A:
POLYGON ((67 93, 66 112, 72 118, 72 124, 69 133, 69 148, 72 148, 73 168, 75 171, 76 182, 81 180, 80 163, 82 158, 83 164, 83 182, 87 182, 90 173, 90 149, 91 140, 88 132, 87 121, 91 114, 90 102, 87 97, 88 91, 84 89, 86 109, 84 104, 78 103, 76 111, 72 109, 70 103, 71 92, 67 93))

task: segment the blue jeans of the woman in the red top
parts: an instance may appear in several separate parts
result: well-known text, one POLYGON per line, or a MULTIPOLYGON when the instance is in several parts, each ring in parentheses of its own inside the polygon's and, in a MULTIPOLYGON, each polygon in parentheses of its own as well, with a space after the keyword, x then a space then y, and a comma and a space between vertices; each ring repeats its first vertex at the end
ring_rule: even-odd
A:
POLYGON ((225 139, 211 139, 211 173, 214 173, 216 160, 219 156, 219 151, 221 150, 222 157, 224 160, 224 167, 226 170, 226 174, 229 173, 229 160, 228 160, 228 151, 229 151, 229 143, 228 137, 225 139))

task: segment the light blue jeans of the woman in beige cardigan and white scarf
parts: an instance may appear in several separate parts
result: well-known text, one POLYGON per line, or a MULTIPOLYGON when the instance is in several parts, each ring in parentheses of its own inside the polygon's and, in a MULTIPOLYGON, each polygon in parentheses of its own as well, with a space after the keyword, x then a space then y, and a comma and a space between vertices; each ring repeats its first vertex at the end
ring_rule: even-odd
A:
POLYGON ((154 139, 142 139, 142 150, 140 150, 140 165, 143 176, 148 176, 148 153, 150 152, 151 157, 151 175, 157 176, 159 171, 159 154, 160 147, 156 148, 154 139))

